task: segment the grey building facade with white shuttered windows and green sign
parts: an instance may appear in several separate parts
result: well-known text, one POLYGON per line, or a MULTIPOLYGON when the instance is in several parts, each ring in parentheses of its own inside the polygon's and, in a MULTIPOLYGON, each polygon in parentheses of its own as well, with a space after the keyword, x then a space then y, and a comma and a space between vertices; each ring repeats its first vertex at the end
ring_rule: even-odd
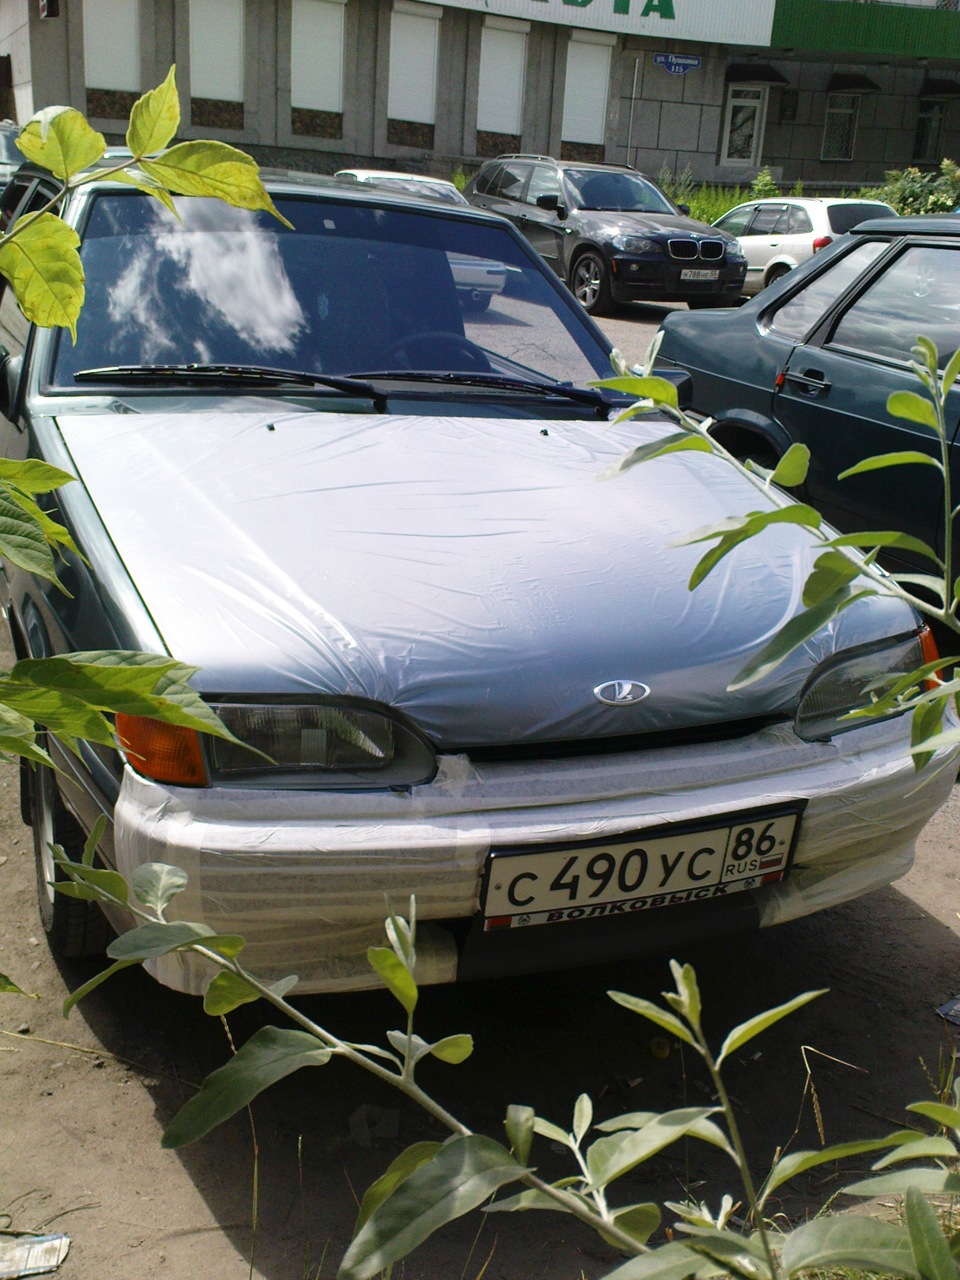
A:
POLYGON ((0 91, 116 138, 170 64, 184 138, 449 177, 500 151, 808 192, 960 154, 959 0, 4 0, 0 91))

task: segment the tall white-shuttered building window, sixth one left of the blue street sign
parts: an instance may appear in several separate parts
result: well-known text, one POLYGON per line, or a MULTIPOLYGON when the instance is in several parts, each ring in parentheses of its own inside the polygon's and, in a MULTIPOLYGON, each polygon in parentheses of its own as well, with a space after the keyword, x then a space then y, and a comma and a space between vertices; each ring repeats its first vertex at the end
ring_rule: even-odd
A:
POLYGON ((140 5, 96 0, 83 5, 83 81, 87 114, 124 119, 140 97, 140 5))

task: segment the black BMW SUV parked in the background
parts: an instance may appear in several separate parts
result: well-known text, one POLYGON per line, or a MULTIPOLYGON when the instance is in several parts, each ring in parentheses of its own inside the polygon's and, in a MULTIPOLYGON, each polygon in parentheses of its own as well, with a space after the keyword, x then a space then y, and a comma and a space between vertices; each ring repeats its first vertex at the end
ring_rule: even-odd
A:
POLYGON ((508 218, 590 312, 639 301, 724 307, 742 292, 736 238, 687 216, 627 165, 502 155, 463 195, 508 218))

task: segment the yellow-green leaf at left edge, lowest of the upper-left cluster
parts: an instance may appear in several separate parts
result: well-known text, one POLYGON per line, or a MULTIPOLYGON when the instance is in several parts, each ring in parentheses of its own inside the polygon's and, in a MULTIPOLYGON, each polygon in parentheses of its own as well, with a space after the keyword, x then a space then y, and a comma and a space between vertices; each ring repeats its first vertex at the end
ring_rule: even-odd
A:
POLYGON ((55 214, 18 219, 13 230, 14 238, 0 244, 0 274, 28 320, 44 328, 61 325, 76 342, 83 306, 79 237, 55 214))

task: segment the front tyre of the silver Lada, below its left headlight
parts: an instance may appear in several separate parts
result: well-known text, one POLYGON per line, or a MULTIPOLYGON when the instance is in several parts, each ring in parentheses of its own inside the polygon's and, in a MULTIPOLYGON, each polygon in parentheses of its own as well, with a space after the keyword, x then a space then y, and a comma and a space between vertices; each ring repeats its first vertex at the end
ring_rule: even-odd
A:
POLYGON ((86 837, 60 797, 54 771, 44 764, 37 765, 31 780, 31 818, 37 905, 50 950, 63 960, 101 955, 114 933, 97 904, 65 897, 50 887, 65 878, 50 845, 63 846, 72 861, 79 861, 86 837))

